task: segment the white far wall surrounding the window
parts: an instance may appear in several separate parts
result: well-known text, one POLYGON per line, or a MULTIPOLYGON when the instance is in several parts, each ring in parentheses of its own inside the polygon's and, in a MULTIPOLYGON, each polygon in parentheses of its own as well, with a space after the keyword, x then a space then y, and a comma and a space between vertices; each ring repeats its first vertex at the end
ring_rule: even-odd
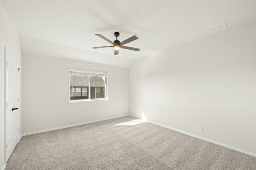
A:
POLYGON ((53 57, 22 57, 22 133, 129 113, 128 69, 53 57), (109 100, 68 104, 68 68, 108 72, 109 100))

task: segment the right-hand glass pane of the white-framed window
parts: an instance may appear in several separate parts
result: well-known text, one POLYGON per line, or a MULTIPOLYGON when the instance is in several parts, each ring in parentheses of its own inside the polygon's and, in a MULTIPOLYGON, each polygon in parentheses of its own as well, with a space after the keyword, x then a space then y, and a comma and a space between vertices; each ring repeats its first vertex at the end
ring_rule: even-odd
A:
POLYGON ((105 98, 106 77, 90 76, 91 99, 105 98))

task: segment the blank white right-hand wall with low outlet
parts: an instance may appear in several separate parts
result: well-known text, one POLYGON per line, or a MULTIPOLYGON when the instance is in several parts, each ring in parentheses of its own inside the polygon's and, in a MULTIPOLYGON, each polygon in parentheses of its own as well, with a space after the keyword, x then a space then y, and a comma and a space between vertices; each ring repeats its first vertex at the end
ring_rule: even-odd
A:
POLYGON ((256 21, 135 61, 129 77, 131 114, 256 153, 256 21))

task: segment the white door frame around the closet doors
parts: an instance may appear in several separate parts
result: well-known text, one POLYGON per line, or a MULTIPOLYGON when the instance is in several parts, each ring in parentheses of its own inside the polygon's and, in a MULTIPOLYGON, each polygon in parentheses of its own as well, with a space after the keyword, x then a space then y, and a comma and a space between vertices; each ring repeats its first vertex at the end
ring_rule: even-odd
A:
MULTIPOLYGON (((18 61, 20 65, 20 60, 10 51, 6 46, 4 47, 4 163, 7 164, 6 160, 6 54, 9 54, 14 59, 18 61)), ((18 74, 18 99, 20 100, 20 74, 18 74)), ((20 101, 19 101, 20 108, 20 101)), ((18 109, 18 128, 20 128, 20 110, 18 109)), ((19 131, 20 133, 20 131, 19 131)), ((18 142, 20 141, 20 135, 18 134, 18 142)))

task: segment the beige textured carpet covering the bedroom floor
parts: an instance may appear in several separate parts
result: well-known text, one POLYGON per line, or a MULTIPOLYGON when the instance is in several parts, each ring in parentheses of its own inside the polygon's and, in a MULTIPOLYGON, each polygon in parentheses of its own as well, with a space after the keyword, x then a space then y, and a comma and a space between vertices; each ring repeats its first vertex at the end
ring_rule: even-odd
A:
POLYGON ((134 119, 24 136, 6 170, 256 170, 256 157, 134 119))

